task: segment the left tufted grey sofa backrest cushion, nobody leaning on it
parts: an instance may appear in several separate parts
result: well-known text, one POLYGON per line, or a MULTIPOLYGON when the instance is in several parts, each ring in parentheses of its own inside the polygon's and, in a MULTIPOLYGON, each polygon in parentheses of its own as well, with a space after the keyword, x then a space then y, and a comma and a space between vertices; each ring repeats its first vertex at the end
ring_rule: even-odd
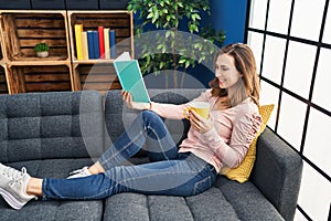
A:
POLYGON ((0 96, 0 161, 85 158, 103 152, 98 92, 0 96))

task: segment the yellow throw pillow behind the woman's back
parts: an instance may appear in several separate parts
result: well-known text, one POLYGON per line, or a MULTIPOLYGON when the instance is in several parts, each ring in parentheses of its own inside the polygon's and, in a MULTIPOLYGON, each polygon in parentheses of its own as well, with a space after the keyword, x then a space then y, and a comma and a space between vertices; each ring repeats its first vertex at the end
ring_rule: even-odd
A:
POLYGON ((256 137, 253 139, 253 141, 249 146, 249 149, 248 149, 244 160, 242 161, 242 164, 238 167, 232 168, 225 172, 225 176, 228 179, 236 180, 241 183, 248 180, 249 175, 253 169, 253 166, 254 166, 254 162, 255 162, 257 138, 266 128, 267 123, 270 118, 271 112, 274 109, 274 106, 275 106, 274 104, 269 104, 269 105, 261 105, 258 107, 258 112, 263 118, 263 124, 260 126, 260 129, 257 133, 256 137))

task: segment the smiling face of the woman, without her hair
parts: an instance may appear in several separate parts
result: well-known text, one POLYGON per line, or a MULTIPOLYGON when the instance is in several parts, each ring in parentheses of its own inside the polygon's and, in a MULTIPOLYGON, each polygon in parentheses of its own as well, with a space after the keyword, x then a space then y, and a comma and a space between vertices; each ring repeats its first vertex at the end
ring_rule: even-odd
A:
POLYGON ((233 56, 221 54, 216 59, 215 76, 221 88, 229 88, 238 82, 242 74, 236 70, 233 56))

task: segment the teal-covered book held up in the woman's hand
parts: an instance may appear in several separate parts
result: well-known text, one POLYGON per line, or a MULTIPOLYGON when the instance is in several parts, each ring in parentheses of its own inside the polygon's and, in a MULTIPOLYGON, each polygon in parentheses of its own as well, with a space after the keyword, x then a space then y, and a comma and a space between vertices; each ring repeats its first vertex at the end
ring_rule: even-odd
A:
POLYGON ((130 92, 134 102, 150 103, 138 61, 124 52, 114 61, 114 66, 121 88, 130 92))

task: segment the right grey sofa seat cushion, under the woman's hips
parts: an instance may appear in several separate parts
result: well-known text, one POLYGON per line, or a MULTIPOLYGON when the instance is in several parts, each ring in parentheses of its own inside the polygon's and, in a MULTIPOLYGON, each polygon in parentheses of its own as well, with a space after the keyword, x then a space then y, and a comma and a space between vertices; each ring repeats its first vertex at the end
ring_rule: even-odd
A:
POLYGON ((106 199, 105 221, 284 220, 255 186, 218 176, 215 187, 192 197, 119 193, 106 199))

